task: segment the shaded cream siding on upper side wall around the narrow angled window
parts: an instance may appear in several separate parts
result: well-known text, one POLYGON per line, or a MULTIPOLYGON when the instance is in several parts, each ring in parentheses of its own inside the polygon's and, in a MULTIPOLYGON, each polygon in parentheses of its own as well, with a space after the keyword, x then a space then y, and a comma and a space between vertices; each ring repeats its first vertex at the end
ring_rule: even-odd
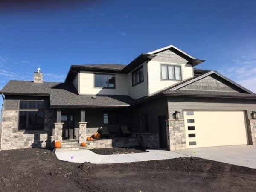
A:
MULTIPOLYGON (((136 70, 136 69, 134 69, 134 70, 136 70)), ((144 62, 143 63, 144 81, 140 84, 135 85, 134 87, 132 87, 132 71, 130 73, 128 73, 128 75, 127 75, 128 76, 128 91, 129 91, 128 94, 131 98, 138 99, 140 97, 148 95, 148 75, 147 75, 147 73, 148 73, 147 72, 147 62, 144 62)))

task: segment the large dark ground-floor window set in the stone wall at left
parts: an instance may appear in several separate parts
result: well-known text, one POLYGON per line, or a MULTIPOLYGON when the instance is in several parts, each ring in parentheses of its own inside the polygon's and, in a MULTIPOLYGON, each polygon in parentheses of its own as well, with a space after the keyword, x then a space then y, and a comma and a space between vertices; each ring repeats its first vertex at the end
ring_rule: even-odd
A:
POLYGON ((44 130, 44 101, 20 101, 18 130, 44 130))

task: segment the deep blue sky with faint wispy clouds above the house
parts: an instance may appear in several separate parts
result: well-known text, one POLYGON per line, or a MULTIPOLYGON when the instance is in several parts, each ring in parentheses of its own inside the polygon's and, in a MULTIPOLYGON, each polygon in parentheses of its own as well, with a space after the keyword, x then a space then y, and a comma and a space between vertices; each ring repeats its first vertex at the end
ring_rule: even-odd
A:
POLYGON ((174 44, 256 92, 255 0, 72 2, 0 1, 0 89, 37 67, 64 81, 71 64, 128 64, 174 44))

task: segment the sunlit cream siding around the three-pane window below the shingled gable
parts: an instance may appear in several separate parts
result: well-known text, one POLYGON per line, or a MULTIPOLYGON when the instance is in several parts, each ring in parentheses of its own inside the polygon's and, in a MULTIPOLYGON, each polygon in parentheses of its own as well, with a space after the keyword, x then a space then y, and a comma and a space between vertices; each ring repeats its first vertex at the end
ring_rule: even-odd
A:
POLYGON ((189 64, 177 64, 161 61, 148 62, 148 92, 149 95, 156 93, 166 87, 176 84, 180 81, 161 80, 160 64, 170 64, 181 66, 182 80, 193 77, 193 67, 189 64))

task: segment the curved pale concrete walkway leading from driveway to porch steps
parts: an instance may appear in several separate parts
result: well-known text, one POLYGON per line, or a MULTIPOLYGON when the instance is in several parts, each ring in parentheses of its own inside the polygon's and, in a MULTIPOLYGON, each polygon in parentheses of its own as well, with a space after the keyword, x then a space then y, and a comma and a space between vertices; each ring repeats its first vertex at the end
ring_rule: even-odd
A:
POLYGON ((56 151, 59 160, 69 161, 73 163, 90 162, 94 164, 107 163, 130 163, 138 161, 174 159, 179 157, 187 157, 186 155, 164 150, 147 150, 149 152, 116 154, 116 155, 99 155, 90 150, 81 151, 56 151))

